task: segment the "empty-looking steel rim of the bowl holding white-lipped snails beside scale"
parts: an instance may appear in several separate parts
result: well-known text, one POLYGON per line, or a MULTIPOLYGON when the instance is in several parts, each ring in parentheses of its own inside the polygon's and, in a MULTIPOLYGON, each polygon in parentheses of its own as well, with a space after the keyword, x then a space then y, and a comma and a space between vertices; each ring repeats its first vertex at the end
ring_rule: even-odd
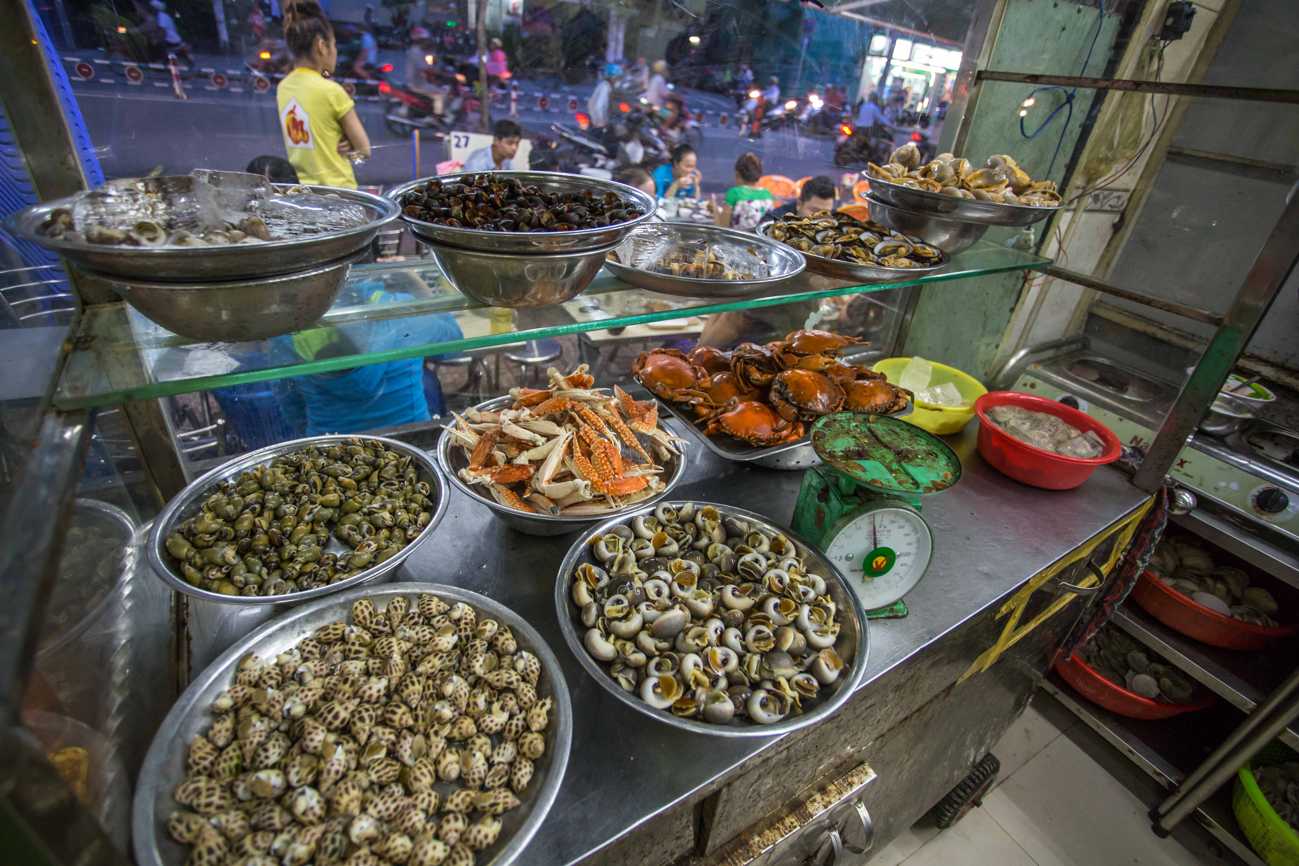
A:
MULTIPOLYGON (((681 506, 685 505, 685 502, 673 502, 673 505, 681 506)), ((839 570, 830 565, 821 552, 808 544, 808 541, 801 536, 795 535, 783 526, 772 523, 761 514, 756 514, 753 512, 746 512, 740 508, 720 505, 717 502, 695 502, 696 508, 703 508, 704 505, 713 505, 722 514, 738 515, 768 535, 779 532, 785 538, 794 541, 799 551, 799 556, 803 557, 807 571, 825 578, 827 593, 838 605, 842 618, 839 640, 834 645, 835 652, 838 652, 844 661, 844 670, 839 675, 839 679, 822 688, 821 693, 818 693, 813 701, 804 701, 804 711, 801 714, 788 715, 776 724, 757 724, 756 722, 751 722, 748 718, 734 718, 729 724, 713 724, 711 722, 681 718, 666 710, 656 710, 642 701, 638 695, 630 695, 622 691, 613 678, 609 676, 608 670, 605 670, 600 662, 591 658, 591 654, 586 650, 582 641, 586 628, 582 626, 581 612, 577 605, 573 604, 569 593, 573 583, 573 573, 577 570, 578 565, 583 562, 599 565, 599 562, 591 556, 591 545, 587 544, 587 539, 595 534, 608 532, 614 526, 630 523, 635 517, 653 513, 652 505, 638 508, 630 514, 624 514, 616 519, 601 523, 598 528, 574 541, 573 547, 569 548, 568 556, 564 557, 564 563, 560 566, 559 579, 555 582, 555 613, 559 615, 560 631, 564 632, 564 640, 568 643, 569 649, 572 649, 573 654, 577 656, 582 667, 586 669, 586 673, 594 676, 607 692, 635 711, 648 715, 650 718, 662 722, 664 724, 682 728, 683 731, 694 731, 695 734, 711 736, 776 736, 778 734, 798 731, 799 728, 804 728, 809 724, 816 724, 821 719, 833 715, 850 697, 852 697, 852 693, 857 691, 857 686, 861 684, 863 676, 866 675, 866 657, 870 653, 870 637, 866 630, 866 614, 861 609, 861 602, 857 601, 856 593, 848 587, 843 575, 839 574, 839 570)))

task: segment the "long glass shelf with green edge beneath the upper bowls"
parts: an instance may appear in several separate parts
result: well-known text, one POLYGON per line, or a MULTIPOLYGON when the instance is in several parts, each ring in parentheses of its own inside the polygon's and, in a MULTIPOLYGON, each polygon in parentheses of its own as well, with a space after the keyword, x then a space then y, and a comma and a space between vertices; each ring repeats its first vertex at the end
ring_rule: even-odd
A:
MULTIPOLYGON (((804 273, 779 288, 742 300, 659 295, 601 271, 582 295, 539 309, 477 304, 457 292, 431 260, 365 265, 352 269, 338 301, 314 327, 270 340, 201 343, 155 325, 122 303, 88 308, 53 402, 64 410, 105 406, 1048 264, 1051 260, 1028 252, 979 241, 940 271, 913 280, 860 286, 804 273)), ((668 326, 664 334, 670 332, 668 326)))

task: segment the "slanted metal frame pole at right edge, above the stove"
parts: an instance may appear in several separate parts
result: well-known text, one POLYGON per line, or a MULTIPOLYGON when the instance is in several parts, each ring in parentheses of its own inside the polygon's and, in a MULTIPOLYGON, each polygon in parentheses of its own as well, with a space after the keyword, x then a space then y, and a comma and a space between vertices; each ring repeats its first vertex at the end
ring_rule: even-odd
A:
POLYGON ((1164 418, 1159 435, 1133 476, 1133 484, 1154 493, 1164 483, 1173 461, 1182 452, 1186 439, 1200 422, 1218 390, 1226 380, 1250 338, 1259 327, 1281 286, 1299 261, 1299 196, 1290 200, 1264 241, 1263 249, 1244 275, 1241 290, 1222 317, 1217 332, 1204 348, 1190 380, 1177 395, 1173 409, 1164 418))

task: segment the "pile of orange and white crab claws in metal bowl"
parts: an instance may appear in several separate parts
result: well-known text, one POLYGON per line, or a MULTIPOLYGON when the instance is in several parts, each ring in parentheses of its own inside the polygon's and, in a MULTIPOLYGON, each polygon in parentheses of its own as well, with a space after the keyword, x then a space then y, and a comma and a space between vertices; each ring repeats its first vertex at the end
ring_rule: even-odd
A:
MULTIPOLYGON (((582 517, 631 505, 662 489, 656 462, 685 440, 659 426, 659 404, 622 388, 592 388, 587 365, 547 370, 549 388, 511 388, 511 409, 469 409, 446 427, 469 453, 468 484, 520 512, 582 517)), ((452 413, 455 414, 455 413, 452 413)))

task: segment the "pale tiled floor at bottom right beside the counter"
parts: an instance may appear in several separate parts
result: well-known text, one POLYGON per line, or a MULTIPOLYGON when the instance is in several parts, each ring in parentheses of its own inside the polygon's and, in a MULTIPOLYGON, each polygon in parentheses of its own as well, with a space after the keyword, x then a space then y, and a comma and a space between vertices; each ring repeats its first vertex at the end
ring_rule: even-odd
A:
MULTIPOLYGON (((1104 760, 1098 748, 1109 748, 1096 740, 1068 710, 1039 692, 992 749, 1002 771, 982 808, 972 809, 946 831, 921 818, 877 853, 870 866, 1239 863, 1233 854, 1205 844, 1199 827, 1183 826, 1168 839, 1156 837, 1146 817, 1150 806, 1092 757, 1104 760)), ((1137 780, 1134 787, 1143 786, 1137 780)))

